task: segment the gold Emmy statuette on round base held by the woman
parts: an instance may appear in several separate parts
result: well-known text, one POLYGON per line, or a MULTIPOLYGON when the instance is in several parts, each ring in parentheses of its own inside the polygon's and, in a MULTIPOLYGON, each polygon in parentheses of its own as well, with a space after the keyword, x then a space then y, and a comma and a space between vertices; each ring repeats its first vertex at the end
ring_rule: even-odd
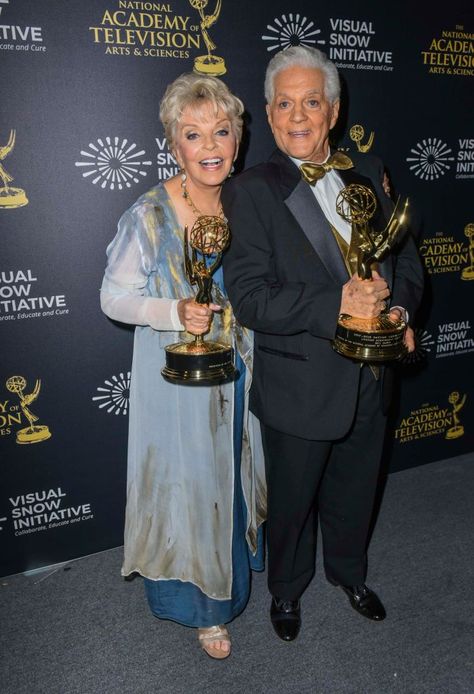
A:
MULTIPOLYGON (((219 267, 229 242, 229 227, 220 217, 198 217, 189 234, 185 227, 184 267, 189 283, 198 286, 196 303, 211 303, 212 274, 219 267)), ((202 335, 196 335, 193 342, 168 345, 165 352, 166 366, 161 373, 170 383, 209 386, 231 381, 236 376, 232 347, 221 342, 205 342, 202 335)))

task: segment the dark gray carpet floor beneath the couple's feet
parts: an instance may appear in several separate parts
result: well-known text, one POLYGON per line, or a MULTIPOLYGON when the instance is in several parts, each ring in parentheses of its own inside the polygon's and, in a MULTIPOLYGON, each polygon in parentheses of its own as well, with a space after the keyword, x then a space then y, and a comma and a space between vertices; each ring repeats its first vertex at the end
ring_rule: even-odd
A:
POLYGON ((217 662, 193 629, 154 618, 121 549, 0 581, 2 694, 473 694, 474 455, 390 475, 368 584, 387 609, 356 614, 321 565, 303 626, 279 641, 264 574, 217 662))

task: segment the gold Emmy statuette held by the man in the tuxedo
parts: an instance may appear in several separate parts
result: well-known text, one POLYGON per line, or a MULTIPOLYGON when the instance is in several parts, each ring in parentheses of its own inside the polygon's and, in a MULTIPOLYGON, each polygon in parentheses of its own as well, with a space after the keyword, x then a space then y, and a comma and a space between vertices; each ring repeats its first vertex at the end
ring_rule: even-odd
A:
MULTIPOLYGON (((369 226, 377 200, 366 186, 351 183, 343 188, 336 199, 338 214, 352 226, 349 262, 359 277, 372 281, 372 267, 395 245, 406 219, 408 200, 401 215, 397 213, 398 200, 389 223, 380 232, 369 226)), ((362 362, 382 362, 398 359, 406 354, 403 342, 406 324, 392 321, 387 310, 377 318, 357 318, 341 314, 333 347, 336 352, 362 362)))

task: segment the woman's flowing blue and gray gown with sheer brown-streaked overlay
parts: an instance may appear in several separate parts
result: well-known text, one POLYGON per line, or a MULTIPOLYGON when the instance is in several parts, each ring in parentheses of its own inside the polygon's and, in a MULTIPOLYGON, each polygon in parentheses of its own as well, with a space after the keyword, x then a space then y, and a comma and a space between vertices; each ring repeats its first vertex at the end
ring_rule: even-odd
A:
POLYGON ((214 300, 223 311, 206 337, 234 346, 240 378, 189 387, 161 376, 164 347, 189 340, 169 320, 149 318, 155 299, 193 296, 182 245, 183 230, 160 184, 121 218, 101 291, 110 317, 136 324, 122 574, 148 579, 157 616, 204 627, 229 621, 245 606, 249 557, 261 568, 265 477, 258 421, 248 410, 253 340, 234 320, 221 271, 214 300))

